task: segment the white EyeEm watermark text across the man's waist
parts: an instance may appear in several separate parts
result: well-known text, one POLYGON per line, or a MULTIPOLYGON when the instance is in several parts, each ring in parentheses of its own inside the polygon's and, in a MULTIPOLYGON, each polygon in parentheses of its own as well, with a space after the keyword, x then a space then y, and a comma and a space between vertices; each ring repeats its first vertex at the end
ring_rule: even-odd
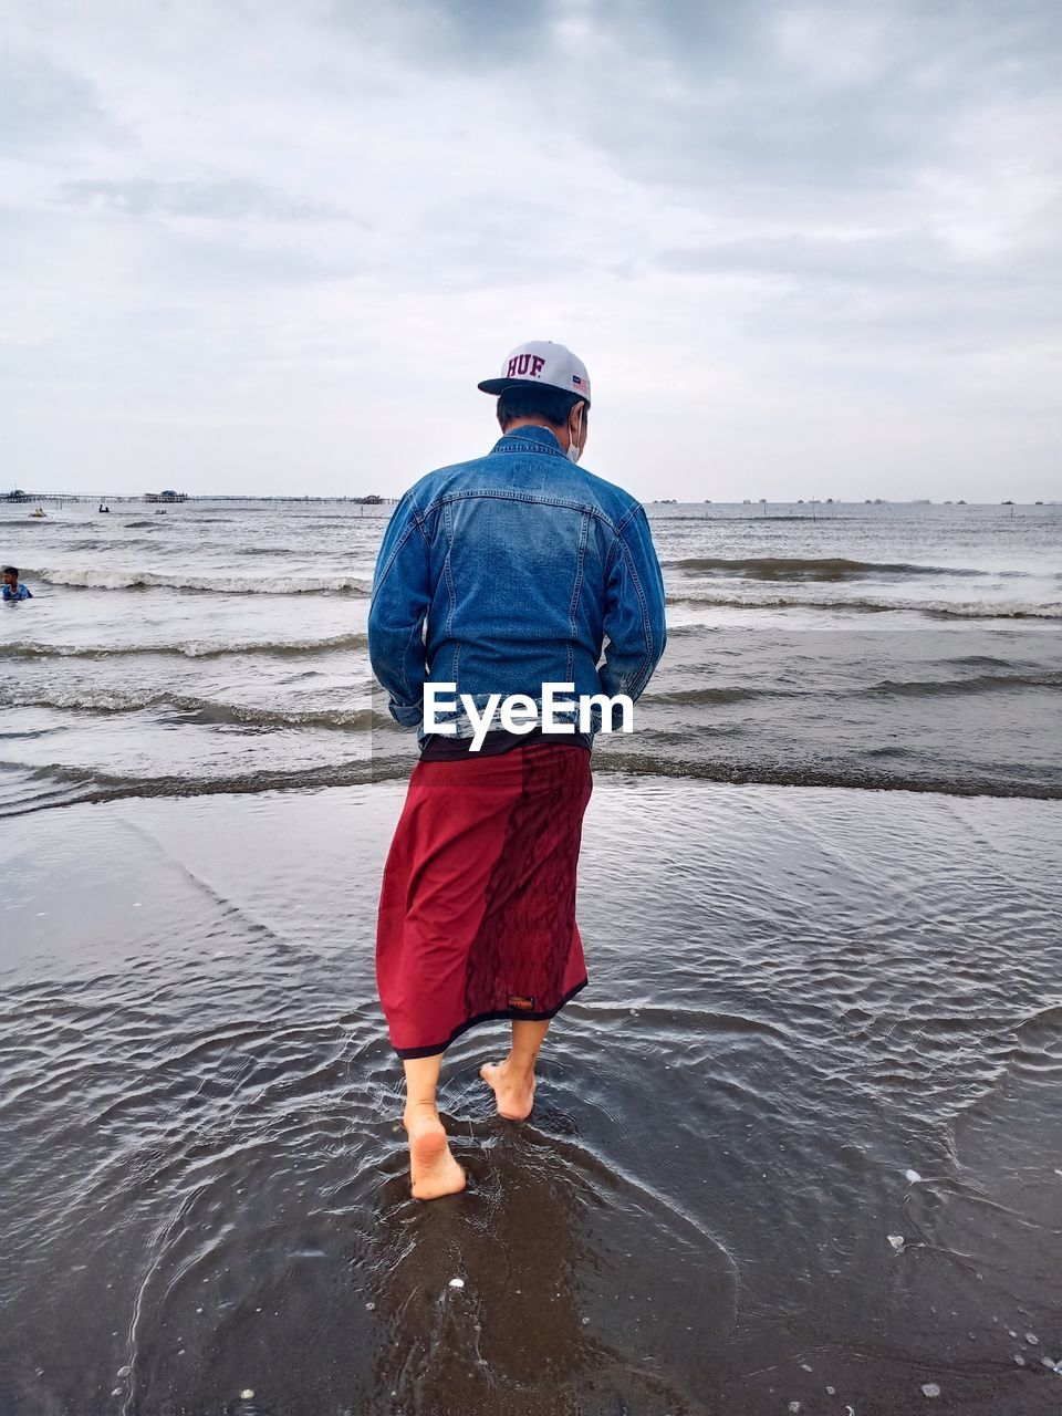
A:
POLYGON ((472 724, 472 750, 479 752, 491 728, 504 728, 506 732, 532 732, 541 728, 542 732, 575 732, 576 726, 571 715, 579 715, 579 732, 593 732, 595 709, 600 715, 600 732, 616 732, 613 728, 615 712, 619 709, 619 732, 634 731, 634 704, 627 694, 579 694, 578 698, 561 698, 561 694, 573 694, 575 684, 542 684, 542 707, 530 694, 489 694, 483 708, 477 707, 472 694, 457 695, 456 684, 425 684, 423 685, 423 731, 440 732, 443 736, 457 735, 457 724, 453 716, 439 718, 439 714, 453 715, 457 705, 472 724))

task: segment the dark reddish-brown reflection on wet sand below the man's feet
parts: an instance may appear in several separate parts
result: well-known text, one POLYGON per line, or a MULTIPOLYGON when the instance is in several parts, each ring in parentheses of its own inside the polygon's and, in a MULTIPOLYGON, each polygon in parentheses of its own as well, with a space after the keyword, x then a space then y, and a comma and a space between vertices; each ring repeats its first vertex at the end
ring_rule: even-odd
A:
POLYGON ((534 1409, 586 1366, 578 1172, 511 1130, 486 1123, 455 1144, 469 1167, 463 1199, 399 1199, 404 1174, 384 1195, 375 1386, 398 1410, 534 1409))

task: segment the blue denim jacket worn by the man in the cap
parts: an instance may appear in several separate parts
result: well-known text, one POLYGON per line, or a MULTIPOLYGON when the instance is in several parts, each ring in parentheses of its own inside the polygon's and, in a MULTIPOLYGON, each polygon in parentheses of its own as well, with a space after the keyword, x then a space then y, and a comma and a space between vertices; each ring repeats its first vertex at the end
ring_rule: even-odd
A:
MULTIPOLYGON (((490 694, 541 705, 544 683, 636 700, 664 641, 644 510, 569 462, 547 428, 520 428, 486 457, 428 473, 391 517, 368 651, 404 726, 421 728, 425 681, 455 683, 477 711, 490 694)), ((466 714, 453 721, 472 735, 466 714)))

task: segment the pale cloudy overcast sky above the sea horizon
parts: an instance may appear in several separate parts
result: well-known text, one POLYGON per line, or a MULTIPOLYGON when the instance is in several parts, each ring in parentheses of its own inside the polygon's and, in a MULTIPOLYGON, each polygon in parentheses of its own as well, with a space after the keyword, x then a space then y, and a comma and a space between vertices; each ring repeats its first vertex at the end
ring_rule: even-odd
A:
POLYGON ((0 491, 1062 497, 1056 0, 0 0, 0 491))

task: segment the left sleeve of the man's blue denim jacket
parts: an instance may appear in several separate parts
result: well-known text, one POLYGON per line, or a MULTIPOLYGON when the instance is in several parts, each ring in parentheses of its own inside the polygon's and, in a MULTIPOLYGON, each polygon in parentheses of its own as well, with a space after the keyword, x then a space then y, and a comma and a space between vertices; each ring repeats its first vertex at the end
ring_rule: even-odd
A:
POLYGON ((384 532, 368 609, 368 657, 388 691, 395 722, 416 728, 423 716, 423 623, 432 600, 428 534, 412 493, 384 532))

